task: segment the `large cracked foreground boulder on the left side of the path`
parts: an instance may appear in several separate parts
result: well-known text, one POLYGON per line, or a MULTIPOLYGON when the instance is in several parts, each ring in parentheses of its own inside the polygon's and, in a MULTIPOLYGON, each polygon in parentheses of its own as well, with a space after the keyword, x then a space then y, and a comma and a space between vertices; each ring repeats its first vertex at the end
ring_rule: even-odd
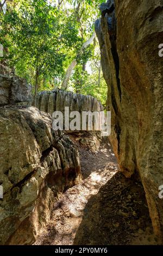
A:
POLYGON ((79 154, 34 107, 0 107, 0 244, 32 244, 66 187, 80 180, 79 154))

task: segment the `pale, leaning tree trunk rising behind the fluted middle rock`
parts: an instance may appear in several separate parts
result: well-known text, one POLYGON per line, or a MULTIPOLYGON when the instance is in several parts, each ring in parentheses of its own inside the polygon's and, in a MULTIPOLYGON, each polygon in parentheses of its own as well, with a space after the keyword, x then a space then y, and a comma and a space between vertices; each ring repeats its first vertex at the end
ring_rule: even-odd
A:
MULTIPOLYGON (((80 49, 80 52, 82 53, 84 51, 84 49, 89 46, 93 40, 95 39, 95 36, 96 36, 96 33, 93 32, 91 38, 89 38, 89 40, 87 40, 86 42, 84 42, 82 48, 80 49)), ((68 66, 68 69, 66 71, 66 75, 64 77, 64 81, 62 82, 62 85, 61 85, 61 90, 66 90, 67 87, 68 87, 68 81, 70 80, 70 77, 71 77, 71 74, 72 74, 72 71, 73 69, 75 68, 75 66, 77 65, 77 60, 74 59, 72 61, 72 63, 70 64, 70 66, 68 66)))

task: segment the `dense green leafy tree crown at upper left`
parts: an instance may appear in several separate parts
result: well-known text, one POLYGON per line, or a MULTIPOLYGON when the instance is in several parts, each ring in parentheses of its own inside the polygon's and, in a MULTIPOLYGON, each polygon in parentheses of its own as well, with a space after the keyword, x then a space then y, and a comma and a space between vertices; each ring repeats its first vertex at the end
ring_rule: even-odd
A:
POLYGON ((18 8, 10 6, 2 19, 7 35, 2 44, 9 48, 9 64, 18 75, 29 78, 33 71, 39 77, 62 76, 67 50, 80 41, 77 24, 71 16, 63 20, 62 15, 46 0, 26 0, 18 8))

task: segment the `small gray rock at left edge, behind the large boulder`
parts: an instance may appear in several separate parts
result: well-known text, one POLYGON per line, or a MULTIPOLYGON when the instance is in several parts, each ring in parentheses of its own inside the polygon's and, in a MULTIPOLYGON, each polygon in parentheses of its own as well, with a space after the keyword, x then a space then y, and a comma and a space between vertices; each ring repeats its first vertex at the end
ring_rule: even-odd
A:
POLYGON ((32 86, 17 76, 0 74, 0 106, 32 100, 32 86))

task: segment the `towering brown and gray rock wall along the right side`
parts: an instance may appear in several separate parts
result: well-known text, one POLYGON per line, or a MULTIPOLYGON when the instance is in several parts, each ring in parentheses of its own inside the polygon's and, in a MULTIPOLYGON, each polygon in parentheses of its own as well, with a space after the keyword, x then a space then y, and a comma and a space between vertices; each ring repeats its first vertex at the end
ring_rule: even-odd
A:
POLYGON ((139 175, 155 233, 163 236, 163 2, 108 1, 96 22, 112 114, 110 141, 127 177, 139 175))

